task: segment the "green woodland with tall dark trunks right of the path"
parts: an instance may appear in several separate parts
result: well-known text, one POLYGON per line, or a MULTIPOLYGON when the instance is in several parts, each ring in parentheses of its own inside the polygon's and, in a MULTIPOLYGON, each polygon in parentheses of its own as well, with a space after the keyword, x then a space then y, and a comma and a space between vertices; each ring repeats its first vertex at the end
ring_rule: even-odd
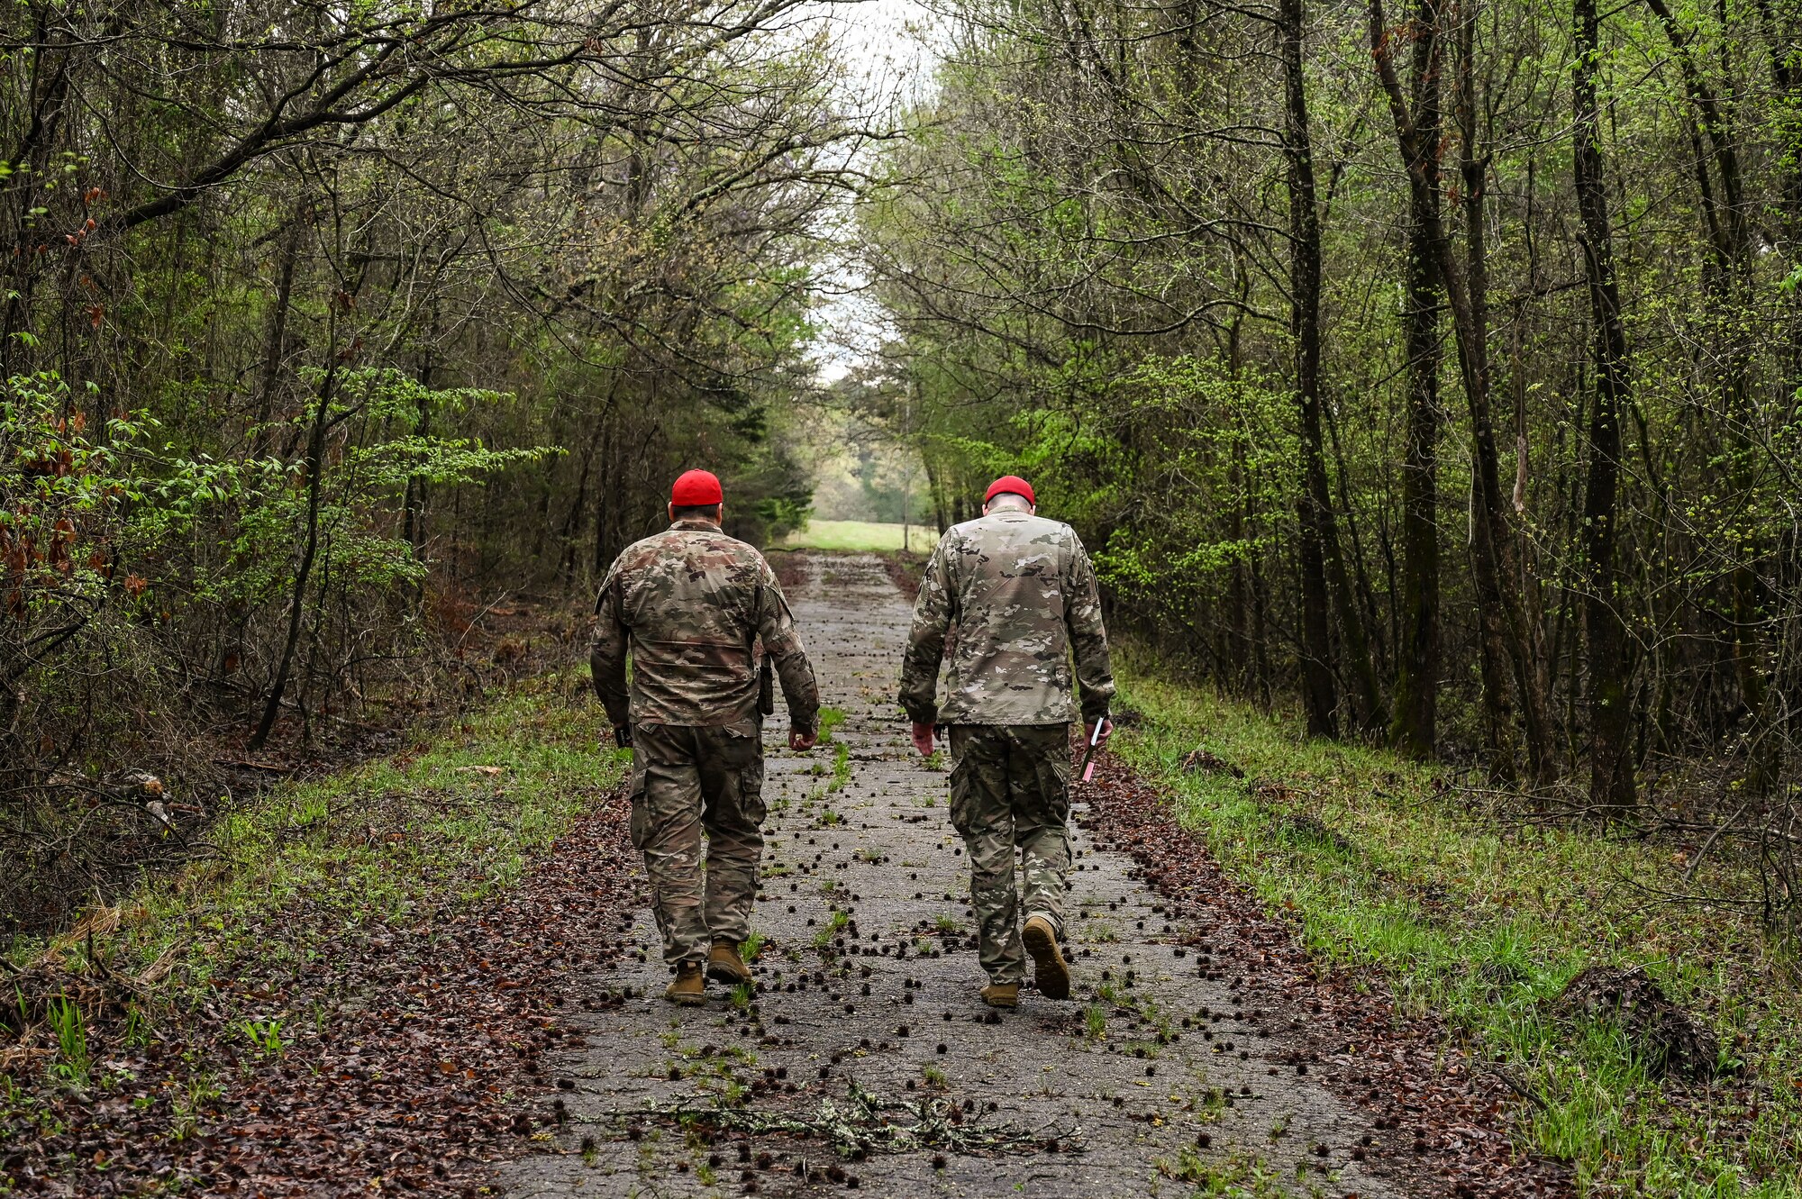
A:
MULTIPOLYGON (((1424 263, 1416 304, 1407 139, 1370 31, 1306 9, 1290 112, 1265 14, 1222 11, 1202 31, 1112 7, 1072 31, 1042 0, 950 5, 959 52, 860 211, 894 329, 865 385, 883 392, 870 416, 919 452, 941 524, 971 517, 995 473, 1027 473, 1042 515, 1083 535, 1115 627, 1155 630, 1160 652, 1265 702, 1319 661, 1319 727, 1384 729, 1499 780, 1528 736, 1541 783, 1586 772, 1586 610, 1606 565, 1588 562, 1586 531, 1607 527, 1631 563, 1602 585, 1629 643, 1604 657, 1629 675, 1634 765, 1716 763, 1660 816, 1692 819, 1716 769, 1802 794, 1777 787, 1802 763, 1802 124, 1788 67, 1771 70, 1793 54, 1786 18, 1602 16, 1595 149, 1631 378, 1622 448, 1593 454, 1568 13, 1492 9, 1456 52, 1469 25, 1431 31, 1447 104, 1418 198, 1445 221, 1451 266, 1424 263), (1463 65, 1472 94, 1451 104, 1463 65), (1510 115, 1461 126, 1456 112, 1510 115), (1314 148, 1317 247, 1290 225, 1297 142, 1274 131, 1294 122, 1314 148), (1303 311, 1315 261, 1319 302, 1303 311), (1409 328, 1431 358, 1409 362, 1409 328), (1305 364, 1317 445, 1299 437, 1305 364), (1604 463, 1618 486, 1591 497, 1604 463), (1476 569, 1492 560, 1503 583, 1476 569)), ((1409 45, 1427 32, 1415 22, 1409 45)), ((1407 56, 1397 67, 1418 101, 1427 81, 1407 56)), ((1748 848, 1782 841, 1788 819, 1748 848)), ((1798 893, 1802 870, 1780 857, 1768 897, 1798 893)))

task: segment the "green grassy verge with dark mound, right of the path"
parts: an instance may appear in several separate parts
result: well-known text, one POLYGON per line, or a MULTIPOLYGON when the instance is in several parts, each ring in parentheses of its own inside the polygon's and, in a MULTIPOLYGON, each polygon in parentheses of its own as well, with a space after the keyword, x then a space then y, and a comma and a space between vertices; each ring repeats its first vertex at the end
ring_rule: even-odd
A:
MULTIPOLYGON (((1142 670, 1123 699, 1144 722, 1115 751, 1227 873, 1524 1082, 1544 1107, 1523 1147, 1571 1161, 1586 1194, 1802 1195, 1795 960, 1750 916, 1661 902, 1685 889, 1670 846, 1512 825, 1425 767, 1142 670), (1184 771, 1198 745, 1247 778, 1184 771), (1557 999, 1588 965, 1643 967, 1721 1033, 1734 1073, 1660 1080, 1618 1030, 1566 1019, 1557 999)), ((1703 871, 1734 893, 1732 864, 1703 871)))

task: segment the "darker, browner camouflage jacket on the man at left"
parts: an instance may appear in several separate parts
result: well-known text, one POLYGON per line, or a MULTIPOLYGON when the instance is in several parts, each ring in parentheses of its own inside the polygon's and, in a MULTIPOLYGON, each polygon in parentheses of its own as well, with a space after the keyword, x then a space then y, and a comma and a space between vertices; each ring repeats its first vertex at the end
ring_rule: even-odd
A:
POLYGON ((614 726, 755 722, 762 641, 782 679, 789 726, 815 729, 820 690, 777 576, 760 553, 712 524, 678 520, 627 545, 600 585, 595 614, 587 661, 614 726))

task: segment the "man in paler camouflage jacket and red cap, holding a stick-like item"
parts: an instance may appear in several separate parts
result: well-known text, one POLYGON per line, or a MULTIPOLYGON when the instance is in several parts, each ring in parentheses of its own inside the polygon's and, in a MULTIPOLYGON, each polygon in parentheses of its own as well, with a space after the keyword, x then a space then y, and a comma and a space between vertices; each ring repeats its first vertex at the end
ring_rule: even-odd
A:
POLYGON ((950 726, 951 825, 969 848, 969 897, 980 924, 982 999, 1020 999, 1025 954, 1040 992, 1067 999, 1063 893, 1070 868, 1070 659, 1081 682, 1085 733, 1106 736, 1114 672, 1096 572, 1076 531, 1034 515, 1033 488, 997 479, 982 517, 939 538, 914 605, 901 668, 901 706, 914 745, 930 754, 950 726), (955 632, 951 632, 955 628, 955 632), (944 708, 939 659, 950 645, 944 708), (1015 848, 1025 870, 1018 922, 1015 848))

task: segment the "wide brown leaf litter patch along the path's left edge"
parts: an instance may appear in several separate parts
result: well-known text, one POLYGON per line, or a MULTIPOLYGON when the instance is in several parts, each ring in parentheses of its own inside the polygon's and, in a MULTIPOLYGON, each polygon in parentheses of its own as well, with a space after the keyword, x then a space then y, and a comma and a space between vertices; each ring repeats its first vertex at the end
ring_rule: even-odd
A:
POLYGON ((627 952, 629 857, 613 792, 487 900, 409 927, 285 909, 148 1042, 94 1021, 86 1086, 14 1071, 0 1192, 474 1195, 539 1134, 542 1055, 582 1044, 564 987, 627 952))

